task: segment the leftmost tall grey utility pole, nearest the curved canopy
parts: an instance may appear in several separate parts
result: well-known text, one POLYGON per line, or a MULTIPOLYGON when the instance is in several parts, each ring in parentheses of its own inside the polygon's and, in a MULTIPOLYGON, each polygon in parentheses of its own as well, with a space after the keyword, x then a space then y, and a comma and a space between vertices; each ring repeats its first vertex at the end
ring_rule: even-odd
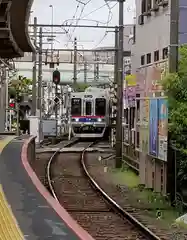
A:
MULTIPOLYGON (((37 18, 34 18, 34 46, 36 47, 37 42, 37 18)), ((33 68, 32 68, 32 109, 31 114, 34 116, 36 115, 36 50, 33 52, 32 55, 33 60, 33 68)))

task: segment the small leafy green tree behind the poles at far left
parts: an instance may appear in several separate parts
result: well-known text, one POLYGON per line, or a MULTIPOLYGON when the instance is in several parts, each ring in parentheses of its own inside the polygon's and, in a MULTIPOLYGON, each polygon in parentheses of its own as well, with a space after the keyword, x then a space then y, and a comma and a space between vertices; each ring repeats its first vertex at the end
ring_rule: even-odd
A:
POLYGON ((23 76, 19 76, 17 79, 12 79, 9 83, 9 96, 16 97, 16 95, 30 95, 32 93, 31 86, 32 80, 23 76))

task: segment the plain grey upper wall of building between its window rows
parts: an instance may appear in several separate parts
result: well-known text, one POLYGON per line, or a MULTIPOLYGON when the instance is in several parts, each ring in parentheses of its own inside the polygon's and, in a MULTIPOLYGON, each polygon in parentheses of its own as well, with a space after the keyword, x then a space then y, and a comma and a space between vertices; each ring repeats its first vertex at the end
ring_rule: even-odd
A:
POLYGON ((132 71, 140 67, 142 55, 151 53, 152 61, 154 51, 160 50, 169 45, 170 32, 170 9, 160 7, 159 12, 150 17, 144 16, 144 24, 138 24, 138 17, 141 15, 141 1, 136 0, 136 43, 132 46, 132 71))

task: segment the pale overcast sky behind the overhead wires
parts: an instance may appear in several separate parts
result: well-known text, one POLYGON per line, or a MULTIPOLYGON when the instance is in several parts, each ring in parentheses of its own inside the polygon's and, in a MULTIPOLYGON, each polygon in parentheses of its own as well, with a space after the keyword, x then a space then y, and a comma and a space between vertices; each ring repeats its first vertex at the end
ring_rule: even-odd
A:
MULTIPOLYGON (((135 0, 126 0, 124 24, 132 24, 134 15, 135 0)), ((34 0, 30 23, 33 23, 34 17, 37 17, 38 23, 41 24, 51 24, 53 19, 54 24, 116 26, 118 25, 118 3, 111 1, 107 6, 104 0, 34 0), (83 4, 86 2, 89 3, 83 4), (49 7, 50 5, 52 7, 49 7)), ((44 31, 50 32, 51 28, 45 28, 44 31)), ((55 38, 55 48, 71 48, 75 37, 78 40, 78 48, 114 46, 114 33, 106 33, 107 29, 66 27, 68 33, 65 33, 62 28, 55 28, 54 31, 63 32, 55 38)))

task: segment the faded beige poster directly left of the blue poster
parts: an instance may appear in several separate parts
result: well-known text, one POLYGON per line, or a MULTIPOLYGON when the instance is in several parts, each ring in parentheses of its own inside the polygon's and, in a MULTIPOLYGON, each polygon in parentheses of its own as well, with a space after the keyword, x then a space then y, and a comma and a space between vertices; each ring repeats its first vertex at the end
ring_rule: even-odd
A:
POLYGON ((140 100, 140 151, 149 151, 149 99, 140 100))

